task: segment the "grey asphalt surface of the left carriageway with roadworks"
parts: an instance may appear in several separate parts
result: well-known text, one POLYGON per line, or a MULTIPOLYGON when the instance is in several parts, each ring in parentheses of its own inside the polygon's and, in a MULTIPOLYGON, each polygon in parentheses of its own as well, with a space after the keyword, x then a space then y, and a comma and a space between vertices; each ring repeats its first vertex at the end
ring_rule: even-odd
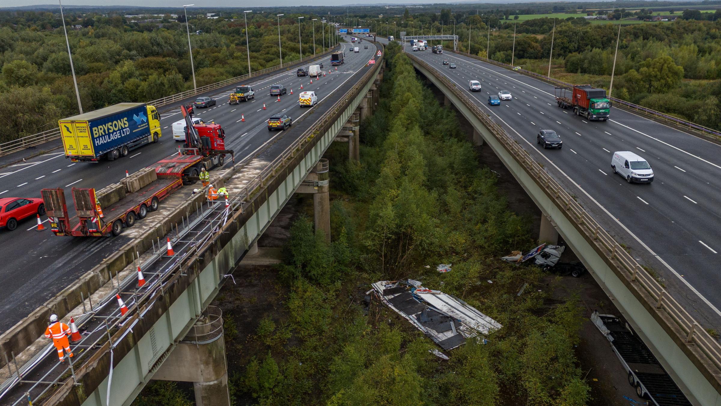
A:
MULTIPOLYGON (((366 45, 366 43, 363 43, 366 45)), ((288 71, 275 72, 265 77, 251 79, 256 97, 248 102, 238 105, 228 105, 227 95, 235 84, 224 90, 216 90, 209 95, 218 100, 218 105, 208 108, 195 109, 195 117, 203 118, 206 122, 215 121, 221 124, 226 131, 226 149, 235 151, 235 160, 239 162, 245 156, 258 154, 265 146, 269 148, 263 153, 279 154, 285 149, 283 135, 293 128, 309 127, 310 121, 298 123, 301 118, 307 118, 309 112, 317 111, 316 117, 327 109, 326 103, 313 109, 298 106, 298 94, 304 90, 312 90, 318 94, 319 103, 332 95, 335 89, 344 84, 349 88, 353 83, 350 79, 358 80, 362 75, 353 75, 356 71, 366 67, 366 62, 376 53, 376 46, 368 43, 368 49, 359 53, 348 52, 348 44, 341 44, 345 51, 345 64, 330 66, 330 56, 321 58, 324 71, 330 74, 318 79, 310 76, 297 76, 298 64, 289 65, 288 71), (313 84, 310 84, 313 79, 313 84), (288 94, 280 97, 269 96, 272 84, 283 84, 288 94), (304 89, 299 89, 303 84, 304 89), (290 94, 293 89, 293 94, 290 94), (262 110, 263 103, 267 110, 262 110), (267 119, 270 115, 283 112, 293 118, 293 127, 288 131, 268 131, 267 119), (241 122, 242 115, 245 121, 241 122)), ((311 63, 306 63, 307 66, 311 63)), ((248 84, 243 82, 243 84, 248 84)), ((345 88, 344 88, 345 89, 345 88)), ((347 91, 347 90, 346 90, 347 91)), ((195 100, 193 97, 191 100, 195 100)), ((178 106, 180 106, 180 102, 178 106)), ((164 157, 177 153, 176 148, 182 142, 174 141, 172 137, 172 123, 182 119, 180 108, 161 114, 162 137, 157 144, 141 146, 131 151, 128 156, 112 162, 99 163, 71 163, 64 158, 63 152, 53 151, 50 154, 37 156, 31 162, 18 164, 0 169, 0 197, 40 197, 43 187, 63 187, 66 191, 68 205, 72 206, 70 190, 72 187, 95 187, 97 190, 119 182, 125 177, 125 170, 133 173, 143 167, 148 167, 164 157)), ((293 132, 295 134, 295 132, 293 132)), ((300 133, 298 132, 298 135, 300 133)), ((226 158, 226 167, 231 165, 226 158)), ((218 169, 215 169, 217 171, 218 169)), ((214 173, 211 172, 211 180, 214 173)), ((195 185, 193 185, 195 187, 195 185)), ((193 187, 185 187, 177 193, 190 193, 193 187)), ((233 191, 231 190, 232 194, 233 191)), ((162 205, 162 203, 161 203, 162 205)), ((47 218, 45 226, 48 226, 47 218)), ((63 288, 92 269, 103 258, 110 255, 127 242, 131 237, 121 234, 114 238, 71 238, 57 237, 49 229, 42 232, 35 231, 35 219, 22 221, 14 231, 0 230, 0 244, 4 252, 4 265, 0 268, 0 331, 12 327, 19 319, 27 316, 37 306, 58 294, 63 288)), ((142 226, 139 221, 136 227, 142 226)), ((130 229, 132 230, 132 229, 130 229)), ((129 230, 128 230, 129 231, 129 230)))

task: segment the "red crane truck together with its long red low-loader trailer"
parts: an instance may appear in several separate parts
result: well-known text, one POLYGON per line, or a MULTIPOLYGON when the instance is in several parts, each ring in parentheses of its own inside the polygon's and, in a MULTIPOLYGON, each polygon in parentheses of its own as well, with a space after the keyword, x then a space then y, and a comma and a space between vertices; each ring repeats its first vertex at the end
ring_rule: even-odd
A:
POLYGON ((94 188, 73 187, 74 217, 68 214, 62 187, 40 190, 50 219, 50 230, 66 237, 120 235, 124 227, 133 226, 137 219, 155 211, 161 200, 183 184, 196 182, 200 167, 210 170, 222 166, 226 154, 234 157, 232 150, 225 149, 225 131, 221 125, 193 125, 192 115, 187 113, 185 106, 180 109, 187 123, 185 148, 179 148, 177 155, 125 178, 122 185, 106 187, 102 194, 96 195, 94 188), (105 207, 99 200, 106 203, 105 207))

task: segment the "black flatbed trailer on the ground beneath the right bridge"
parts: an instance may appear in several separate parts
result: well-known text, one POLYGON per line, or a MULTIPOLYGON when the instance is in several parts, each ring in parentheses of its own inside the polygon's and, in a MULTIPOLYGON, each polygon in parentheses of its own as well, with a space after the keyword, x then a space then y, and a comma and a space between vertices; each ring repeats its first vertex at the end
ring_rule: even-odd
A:
POLYGON ((691 406, 684 392, 628 325, 611 314, 593 312, 590 319, 611 343, 638 397, 650 400, 650 405, 655 406, 691 406))

